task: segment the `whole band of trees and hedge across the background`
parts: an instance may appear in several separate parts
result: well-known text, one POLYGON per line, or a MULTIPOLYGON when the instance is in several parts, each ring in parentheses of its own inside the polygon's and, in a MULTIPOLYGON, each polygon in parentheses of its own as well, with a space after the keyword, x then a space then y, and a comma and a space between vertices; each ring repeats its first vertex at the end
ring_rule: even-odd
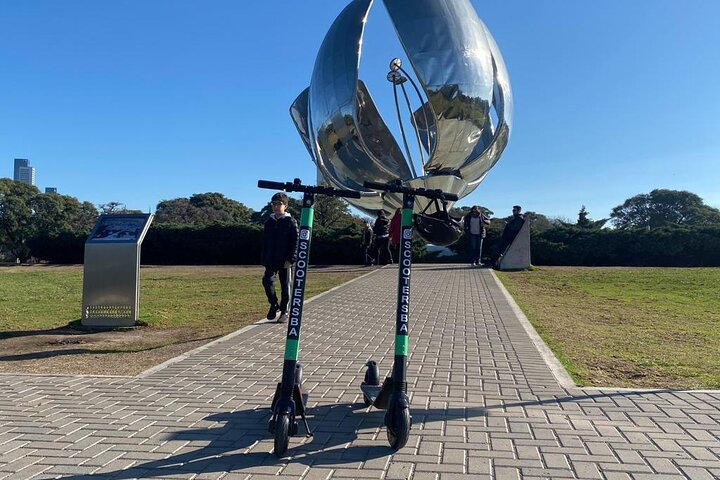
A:
MULTIPOLYGON (((299 218, 300 208, 300 201, 291 198, 289 213, 299 218)), ((462 218, 469 208, 453 208, 450 215, 462 218)), ((492 257, 509 217, 482 210, 491 217, 484 256, 492 257)), ((0 259, 82 263, 85 240, 101 213, 140 212, 120 202, 96 207, 0 179, 0 259)), ((254 211, 216 192, 163 200, 143 242, 143 263, 257 264, 262 225, 271 213, 269 202, 254 211)), ((536 265, 720 266, 720 210, 686 191, 656 189, 639 194, 598 220, 591 219, 584 206, 574 222, 532 211, 525 218, 531 222, 536 265)), ((311 261, 361 263, 364 220, 353 215, 344 200, 318 196, 311 261)), ((450 246, 450 256, 428 253, 419 238, 413 250, 414 260, 420 262, 464 262, 467 257, 465 238, 450 246)))

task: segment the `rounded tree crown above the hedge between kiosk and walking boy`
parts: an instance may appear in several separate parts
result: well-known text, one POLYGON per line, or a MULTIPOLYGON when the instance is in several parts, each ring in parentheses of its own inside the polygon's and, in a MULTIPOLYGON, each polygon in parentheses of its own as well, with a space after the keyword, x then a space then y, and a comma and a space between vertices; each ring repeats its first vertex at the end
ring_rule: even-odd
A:
POLYGON ((198 193, 190 198, 175 198, 158 203, 157 224, 211 225, 247 223, 252 211, 244 204, 221 193, 198 193))

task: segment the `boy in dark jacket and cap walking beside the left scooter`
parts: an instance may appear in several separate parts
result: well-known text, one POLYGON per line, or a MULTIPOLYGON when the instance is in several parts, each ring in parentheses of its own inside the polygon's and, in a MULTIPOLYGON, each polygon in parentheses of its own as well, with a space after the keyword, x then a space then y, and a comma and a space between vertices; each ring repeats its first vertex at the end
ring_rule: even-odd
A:
POLYGON ((263 232, 263 287, 270 303, 267 319, 274 320, 278 310, 280 317, 278 323, 287 321, 287 307, 290 302, 290 279, 292 265, 295 263, 297 253, 298 227, 297 222, 285 210, 288 206, 288 196, 276 193, 271 200, 273 213, 265 222, 263 232), (275 277, 280 277, 280 302, 275 294, 275 277))

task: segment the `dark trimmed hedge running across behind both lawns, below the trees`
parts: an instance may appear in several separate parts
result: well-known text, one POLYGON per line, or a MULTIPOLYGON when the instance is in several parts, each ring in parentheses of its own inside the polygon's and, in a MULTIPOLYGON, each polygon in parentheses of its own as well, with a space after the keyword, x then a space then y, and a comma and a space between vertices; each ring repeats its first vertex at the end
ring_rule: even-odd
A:
MULTIPOLYGON (((35 258, 51 263, 82 263, 88 233, 63 232, 28 242, 35 258)), ((484 257, 494 255, 500 231, 489 229, 484 257)), ((667 226, 654 230, 593 230, 556 227, 532 234, 535 265, 578 266, 720 266, 720 225, 667 226)), ((433 261, 413 242, 413 261, 433 261)), ((216 224, 205 227, 158 225, 148 231, 142 262, 148 265, 257 265, 261 259, 262 226, 216 224)), ((465 262, 467 239, 453 245, 454 257, 436 261, 465 262)), ((395 253, 395 257, 397 253, 395 253)), ((359 264, 360 230, 355 225, 313 231, 313 264, 359 264)))

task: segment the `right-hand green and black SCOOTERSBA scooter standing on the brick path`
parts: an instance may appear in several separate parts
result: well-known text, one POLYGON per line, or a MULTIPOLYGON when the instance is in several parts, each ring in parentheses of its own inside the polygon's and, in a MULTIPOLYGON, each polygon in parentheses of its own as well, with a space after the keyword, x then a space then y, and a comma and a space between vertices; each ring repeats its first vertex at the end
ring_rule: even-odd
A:
POLYGON ((385 412, 385 426, 390 446, 400 450, 408 441, 412 417, 410 399, 407 396, 406 367, 408 356, 408 331, 410 316, 410 270, 412 268, 413 206, 415 197, 426 197, 442 202, 447 214, 447 201, 456 201, 457 195, 442 190, 403 187, 399 180, 393 184, 365 182, 366 188, 385 192, 402 193, 403 209, 400 228, 400 252, 398 258, 398 294, 395 317, 395 361, 392 375, 380 385, 377 363, 368 361, 365 380, 360 385, 365 405, 374 406, 385 412))

